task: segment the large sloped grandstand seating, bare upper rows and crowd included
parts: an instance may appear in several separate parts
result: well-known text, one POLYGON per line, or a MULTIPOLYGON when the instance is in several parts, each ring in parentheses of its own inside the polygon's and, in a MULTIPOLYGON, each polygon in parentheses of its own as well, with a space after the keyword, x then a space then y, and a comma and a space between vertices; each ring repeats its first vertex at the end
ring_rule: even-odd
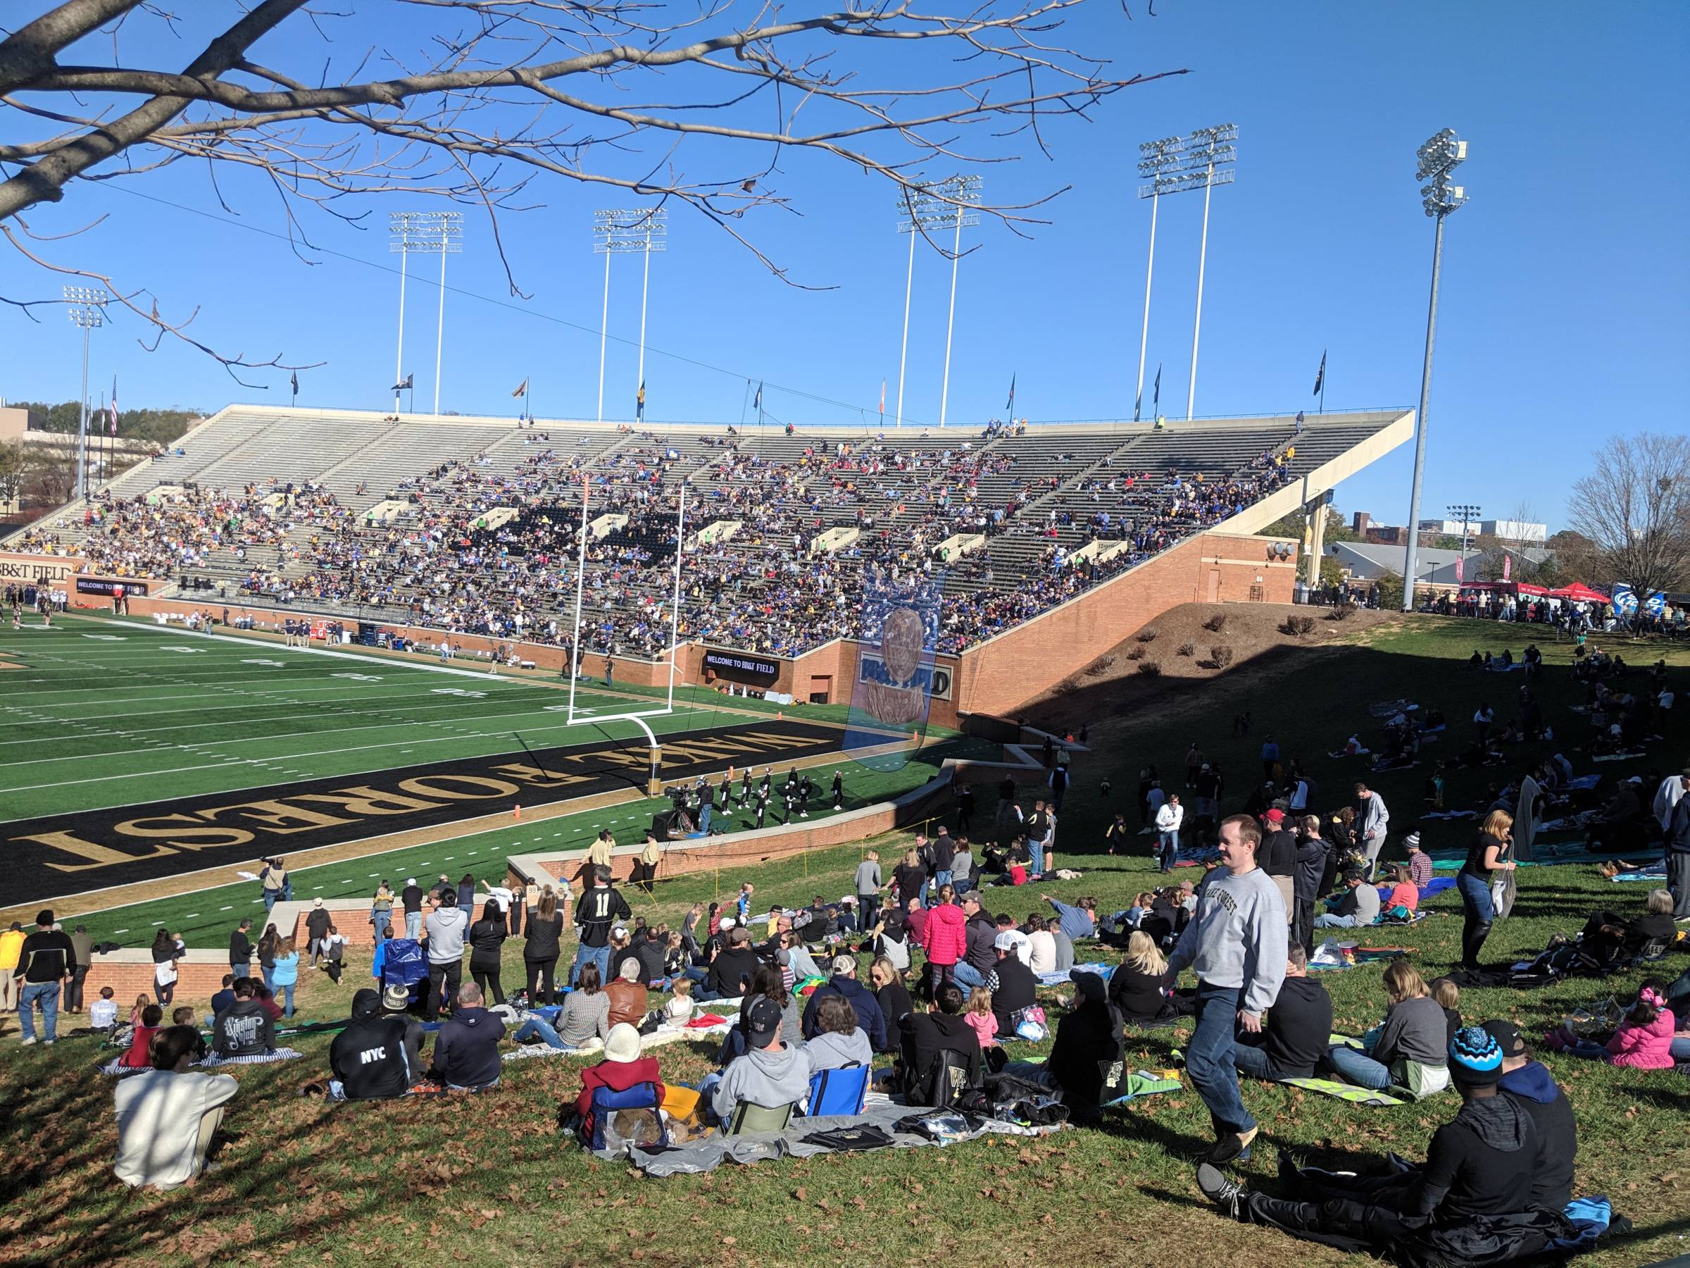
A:
POLYGON ((683 639, 796 654, 855 634, 867 585, 921 578, 943 590, 941 649, 957 651, 1389 421, 906 436, 232 407, 8 544, 230 600, 568 641, 585 473, 583 651, 668 646, 683 489, 683 639), (830 531, 850 541, 825 551, 830 531))

